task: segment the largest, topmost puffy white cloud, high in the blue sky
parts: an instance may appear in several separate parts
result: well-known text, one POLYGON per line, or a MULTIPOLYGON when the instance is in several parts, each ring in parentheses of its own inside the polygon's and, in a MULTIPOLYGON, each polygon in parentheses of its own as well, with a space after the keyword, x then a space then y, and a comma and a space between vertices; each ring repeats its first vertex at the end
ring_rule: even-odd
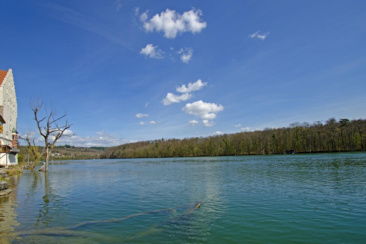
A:
POLYGON ((154 30, 164 32, 164 36, 167 38, 175 38, 178 33, 181 34, 183 32, 199 33, 207 25, 201 19, 202 11, 196 10, 195 8, 183 12, 182 15, 175 10, 169 10, 167 8, 160 15, 156 14, 148 21, 147 12, 144 12, 142 15, 140 16, 140 20, 143 22, 143 28, 146 32, 153 32, 154 30))

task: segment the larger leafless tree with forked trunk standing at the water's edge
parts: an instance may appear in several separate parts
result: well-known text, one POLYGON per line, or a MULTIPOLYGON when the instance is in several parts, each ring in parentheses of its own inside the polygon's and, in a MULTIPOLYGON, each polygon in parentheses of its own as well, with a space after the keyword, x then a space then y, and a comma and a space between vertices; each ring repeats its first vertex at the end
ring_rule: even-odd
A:
POLYGON ((34 120, 36 121, 39 133, 45 142, 45 147, 41 154, 45 155, 46 164, 42 166, 42 168, 44 167, 43 170, 48 171, 48 158, 55 148, 56 141, 61 137, 75 136, 75 133, 67 134, 68 129, 72 126, 72 124, 68 123, 67 119, 66 122, 61 123, 61 120, 67 116, 66 110, 64 110, 62 115, 58 115, 55 107, 53 107, 51 103, 49 110, 45 108, 45 116, 39 117, 39 112, 43 107, 43 101, 40 97, 31 98, 29 107, 34 113, 34 120))

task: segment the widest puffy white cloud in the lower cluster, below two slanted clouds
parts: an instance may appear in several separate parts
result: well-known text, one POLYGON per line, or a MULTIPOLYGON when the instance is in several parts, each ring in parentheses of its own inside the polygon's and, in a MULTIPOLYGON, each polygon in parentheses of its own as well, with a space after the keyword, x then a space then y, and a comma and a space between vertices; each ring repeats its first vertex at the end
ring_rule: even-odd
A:
POLYGON ((196 115, 205 120, 216 118, 216 113, 223 110, 224 106, 221 104, 205 103, 202 100, 195 101, 194 103, 187 103, 186 106, 182 108, 182 111, 196 115))

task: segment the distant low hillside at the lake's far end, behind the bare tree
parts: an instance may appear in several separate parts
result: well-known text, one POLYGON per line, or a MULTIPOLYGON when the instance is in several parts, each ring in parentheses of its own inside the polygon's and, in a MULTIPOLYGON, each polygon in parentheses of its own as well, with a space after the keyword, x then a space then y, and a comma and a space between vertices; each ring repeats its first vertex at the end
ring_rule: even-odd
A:
MULTIPOLYGON (((76 160, 76 159, 100 159, 101 154, 106 147, 74 147, 71 145, 56 146, 52 151, 50 160, 76 160), (60 154, 60 155, 58 155, 60 154)), ((19 146, 20 154, 23 155, 24 160, 28 160, 28 147, 19 146)), ((42 150, 42 147, 39 147, 42 150)), ((41 160, 44 160, 42 158, 41 160)))

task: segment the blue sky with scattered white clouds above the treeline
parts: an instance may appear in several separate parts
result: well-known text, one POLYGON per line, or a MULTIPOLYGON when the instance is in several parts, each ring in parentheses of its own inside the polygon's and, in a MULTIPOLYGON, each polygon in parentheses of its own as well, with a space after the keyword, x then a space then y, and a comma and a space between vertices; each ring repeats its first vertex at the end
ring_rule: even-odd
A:
MULTIPOLYGON (((365 1, 4 1, 0 70, 113 146, 366 117, 365 1)), ((71 133, 71 132, 69 132, 71 133)))

